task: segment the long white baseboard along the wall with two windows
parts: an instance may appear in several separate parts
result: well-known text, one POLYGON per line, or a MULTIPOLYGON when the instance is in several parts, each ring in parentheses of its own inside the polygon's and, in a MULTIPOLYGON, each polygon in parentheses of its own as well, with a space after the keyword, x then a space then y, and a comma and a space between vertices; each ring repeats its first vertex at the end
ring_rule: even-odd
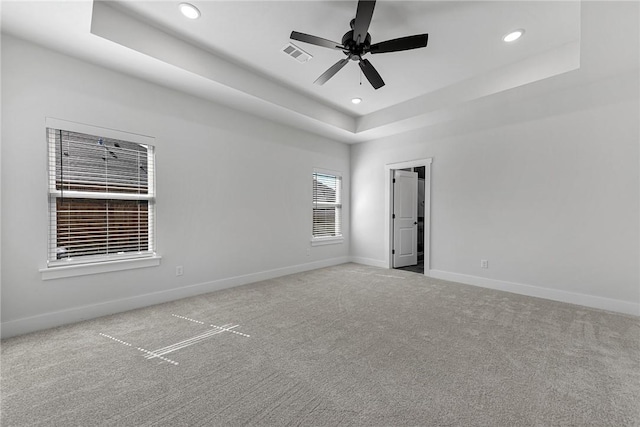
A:
POLYGON ((181 298, 192 297, 221 289, 246 285, 259 282, 261 280, 273 279, 286 276, 288 274, 301 273, 303 271, 316 270, 318 268, 330 267, 350 262, 349 257, 330 258, 322 261, 315 261, 305 264, 298 264, 288 267, 276 268, 273 270, 261 271, 242 276, 229 277, 225 279, 213 280, 211 282, 198 283, 181 288, 168 289, 150 294, 138 295, 130 298, 123 298, 113 301, 106 301, 98 304, 73 307, 67 310, 55 311, 40 314, 37 316, 25 317, 22 319, 10 320, 0 324, 0 336, 9 338, 29 332, 49 329, 69 323, 94 319, 96 317, 121 313, 123 311, 148 307, 150 305, 175 301, 181 298))

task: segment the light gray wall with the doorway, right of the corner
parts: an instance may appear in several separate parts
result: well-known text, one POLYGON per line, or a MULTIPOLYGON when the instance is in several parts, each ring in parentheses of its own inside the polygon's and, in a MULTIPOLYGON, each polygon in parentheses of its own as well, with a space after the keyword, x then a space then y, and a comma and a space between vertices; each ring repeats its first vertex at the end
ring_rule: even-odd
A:
POLYGON ((638 4, 583 14, 580 70, 352 146, 354 259, 388 257, 385 164, 433 158, 430 275, 640 314, 638 4))

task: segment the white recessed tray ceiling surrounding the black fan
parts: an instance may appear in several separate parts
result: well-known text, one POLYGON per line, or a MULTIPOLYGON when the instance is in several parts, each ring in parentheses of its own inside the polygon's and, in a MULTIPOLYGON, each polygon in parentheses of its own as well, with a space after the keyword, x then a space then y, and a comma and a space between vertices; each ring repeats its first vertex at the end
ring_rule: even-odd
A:
POLYGON ((345 142, 579 66, 579 1, 378 1, 372 43, 429 34, 426 48, 367 55, 386 82, 379 90, 356 63, 314 85, 340 51, 294 42, 313 56, 304 64, 281 51, 292 30, 340 42, 355 0, 190 2, 198 20, 184 18, 179 1, 3 1, 2 30, 345 142), (525 36, 504 43, 517 28, 525 36))

